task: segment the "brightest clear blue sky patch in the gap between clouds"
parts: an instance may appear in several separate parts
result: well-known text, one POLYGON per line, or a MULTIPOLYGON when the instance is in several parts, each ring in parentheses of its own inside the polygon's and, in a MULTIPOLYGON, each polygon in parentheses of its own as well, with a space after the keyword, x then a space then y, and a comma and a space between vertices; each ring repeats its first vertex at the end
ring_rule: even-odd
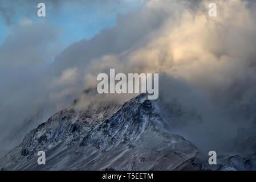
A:
POLYGON ((55 24, 62 27, 61 39, 70 44, 81 39, 91 39, 101 30, 115 26, 117 14, 126 14, 141 5, 128 1, 121 4, 108 3, 105 6, 99 1, 83 6, 67 3, 58 16, 52 17, 55 24))

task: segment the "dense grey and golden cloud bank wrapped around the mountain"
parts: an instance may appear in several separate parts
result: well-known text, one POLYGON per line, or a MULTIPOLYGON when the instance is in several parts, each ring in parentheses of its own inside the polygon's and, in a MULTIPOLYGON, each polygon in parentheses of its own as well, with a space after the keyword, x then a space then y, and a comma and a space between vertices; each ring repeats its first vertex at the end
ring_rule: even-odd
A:
MULTIPOLYGON (((247 119, 232 116, 241 105, 254 106, 255 3, 214 1, 217 17, 211 18, 209 2, 148 1, 118 16, 115 27, 62 52, 58 27, 24 20, 0 46, 1 138, 26 119, 40 115, 26 127, 31 129, 67 107, 84 89, 96 86, 98 73, 115 68, 123 73, 159 72, 160 106, 173 130, 203 151, 230 151, 237 129, 254 122, 253 114, 247 119)), ((119 96, 118 101, 128 98, 119 96)), ((87 102, 82 98, 79 106, 87 102)))

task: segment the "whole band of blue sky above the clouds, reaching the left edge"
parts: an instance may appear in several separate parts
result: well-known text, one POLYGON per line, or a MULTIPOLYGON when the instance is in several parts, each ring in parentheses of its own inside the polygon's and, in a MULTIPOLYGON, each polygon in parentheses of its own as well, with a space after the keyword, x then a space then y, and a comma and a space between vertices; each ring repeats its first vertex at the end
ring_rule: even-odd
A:
POLYGON ((60 40, 68 46, 83 38, 91 39, 100 30, 115 26, 117 15, 136 10, 143 5, 144 1, 124 0, 106 3, 85 1, 86 3, 81 4, 66 1, 66 3, 56 6, 45 3, 46 17, 42 18, 38 18, 36 14, 37 3, 30 5, 32 8, 29 8, 26 5, 15 7, 15 4, 9 4, 9 2, 4 1, 2 6, 12 7, 11 10, 15 10, 15 13, 11 16, 11 23, 7 23, 0 12, 0 44, 7 35, 11 34, 11 27, 14 27, 22 19, 30 19, 32 22, 44 20, 47 24, 60 27, 60 40))

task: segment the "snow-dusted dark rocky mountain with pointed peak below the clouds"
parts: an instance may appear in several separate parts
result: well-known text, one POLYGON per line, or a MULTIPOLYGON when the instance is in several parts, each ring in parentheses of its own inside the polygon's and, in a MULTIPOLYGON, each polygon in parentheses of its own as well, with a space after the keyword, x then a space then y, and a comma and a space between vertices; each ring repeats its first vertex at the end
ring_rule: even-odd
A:
POLYGON ((197 148, 173 134, 156 103, 141 94, 120 105, 91 105, 59 111, 30 131, 0 160, 7 170, 242 170, 255 163, 222 157, 210 166, 197 148), (38 151, 46 164, 38 165, 38 151))

